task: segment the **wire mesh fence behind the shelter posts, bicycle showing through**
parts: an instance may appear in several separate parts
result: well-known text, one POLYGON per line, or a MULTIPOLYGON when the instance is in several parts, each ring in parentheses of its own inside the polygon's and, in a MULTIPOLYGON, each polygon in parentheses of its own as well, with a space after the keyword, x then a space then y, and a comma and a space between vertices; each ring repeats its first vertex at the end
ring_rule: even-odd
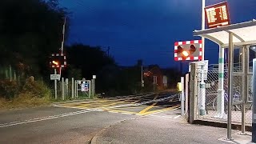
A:
MULTIPOLYGON (((233 123, 241 124, 242 123, 242 67, 239 64, 234 64, 234 73, 232 77, 232 85, 233 85, 233 97, 232 97, 232 106, 231 106, 231 121, 233 123)), ((218 66, 208 66, 208 74, 206 83, 206 115, 200 115, 198 107, 198 118, 199 119, 210 119, 226 122, 227 118, 227 107, 228 107, 228 71, 227 66, 224 69, 224 78, 223 78, 223 89, 224 94, 224 114, 222 117, 218 115, 217 111, 217 103, 218 103, 218 66)), ((245 122, 246 125, 252 125, 252 74, 248 76, 248 95, 245 107, 246 107, 246 116, 245 122)), ((199 87, 199 85, 198 85, 199 87)), ((198 88, 198 103, 200 101, 201 91, 198 88)))

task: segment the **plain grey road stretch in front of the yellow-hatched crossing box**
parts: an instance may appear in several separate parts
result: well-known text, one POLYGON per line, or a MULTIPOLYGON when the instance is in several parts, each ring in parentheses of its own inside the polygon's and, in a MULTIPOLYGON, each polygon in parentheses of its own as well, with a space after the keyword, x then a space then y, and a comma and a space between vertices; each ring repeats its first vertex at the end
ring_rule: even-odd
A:
POLYGON ((70 113, 79 111, 45 107, 1 113, 1 122, 5 123, 0 124, 0 143, 90 143, 104 127, 138 117, 86 110, 70 113))

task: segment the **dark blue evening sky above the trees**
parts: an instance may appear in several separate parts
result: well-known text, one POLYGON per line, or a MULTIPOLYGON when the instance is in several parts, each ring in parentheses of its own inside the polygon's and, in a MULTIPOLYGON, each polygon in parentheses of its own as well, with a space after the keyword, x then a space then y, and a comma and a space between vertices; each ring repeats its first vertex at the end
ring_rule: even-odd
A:
MULTIPOLYGON (((178 66, 174 42, 198 39, 202 0, 59 0, 70 12, 68 44, 102 46, 122 66, 178 66)), ((223 0, 206 0, 206 6, 223 0)), ((256 0, 227 0, 231 23, 256 18, 256 0)), ((256 34, 255 34, 256 36, 256 34)), ((218 62, 218 46, 206 42, 206 59, 218 62)))

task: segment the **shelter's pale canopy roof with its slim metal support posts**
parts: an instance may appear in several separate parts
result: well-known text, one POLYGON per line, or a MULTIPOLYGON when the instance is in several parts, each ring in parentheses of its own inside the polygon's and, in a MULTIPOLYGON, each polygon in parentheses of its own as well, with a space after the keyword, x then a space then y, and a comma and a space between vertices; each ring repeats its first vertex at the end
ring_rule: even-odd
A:
MULTIPOLYGON (((235 46, 243 46, 242 53, 242 77, 245 81, 243 81, 242 85, 242 97, 245 97, 248 93, 248 82, 247 78, 249 75, 249 48, 248 45, 256 44, 256 20, 253 19, 250 22, 242 22, 229 26, 222 26, 217 28, 211 28, 207 30, 194 30, 194 36, 201 36, 202 38, 207 38, 210 41, 216 42, 222 48, 229 48, 229 70, 228 70, 228 120, 227 120, 227 139, 231 140, 231 106, 232 106, 232 98, 233 98, 233 86, 232 86, 232 76, 233 76, 233 61, 234 61, 234 45, 235 46), (252 30, 248 30, 247 28, 251 28, 252 30), (224 32, 224 34, 223 34, 224 32), (240 34, 238 34, 240 33, 240 34), (242 33, 242 34, 241 34, 242 33)), ((222 71, 224 72, 224 71, 222 71)), ((242 119, 245 117, 245 106, 247 98, 242 98, 242 119)), ((242 133, 245 131, 245 122, 242 120, 242 133)))

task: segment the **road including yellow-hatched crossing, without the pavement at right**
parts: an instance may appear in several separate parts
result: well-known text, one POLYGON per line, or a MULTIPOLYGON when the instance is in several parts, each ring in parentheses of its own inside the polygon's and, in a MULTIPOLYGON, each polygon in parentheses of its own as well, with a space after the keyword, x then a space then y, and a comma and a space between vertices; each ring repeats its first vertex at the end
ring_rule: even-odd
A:
POLYGON ((147 94, 2 111, 0 143, 90 143, 105 127, 175 110, 178 103, 175 94, 147 94))

